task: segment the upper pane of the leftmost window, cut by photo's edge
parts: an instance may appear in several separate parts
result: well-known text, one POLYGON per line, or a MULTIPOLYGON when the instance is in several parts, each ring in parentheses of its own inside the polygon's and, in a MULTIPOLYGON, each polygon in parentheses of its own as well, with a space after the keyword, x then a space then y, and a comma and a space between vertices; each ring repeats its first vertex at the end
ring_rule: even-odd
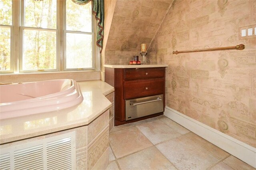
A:
POLYGON ((0 0, 0 24, 12 25, 12 0, 0 0))

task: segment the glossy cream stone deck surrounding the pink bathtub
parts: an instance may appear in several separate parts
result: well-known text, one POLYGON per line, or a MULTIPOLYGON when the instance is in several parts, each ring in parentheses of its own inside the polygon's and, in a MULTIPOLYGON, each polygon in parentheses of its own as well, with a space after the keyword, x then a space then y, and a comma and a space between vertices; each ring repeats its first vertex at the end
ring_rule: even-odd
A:
MULTIPOLYGON (((42 135, 51 134, 58 131, 64 131, 68 129, 73 129, 76 127, 84 126, 90 124, 94 119, 99 117, 102 113, 107 111, 111 106, 111 102, 105 97, 106 95, 114 92, 114 87, 110 86, 106 82, 103 82, 102 80, 86 80, 86 81, 79 81, 78 84, 80 85, 82 94, 83 92, 92 92, 92 96, 94 98, 97 98, 97 104, 92 109, 92 111, 87 111, 88 116, 84 117, 82 119, 76 120, 76 121, 60 121, 56 125, 52 125, 51 127, 42 127, 38 129, 32 129, 29 131, 20 131, 17 127, 14 129, 17 130, 17 133, 10 133, 1 135, 0 134, 0 145, 4 145, 7 143, 20 141, 23 139, 29 139, 32 137, 40 137, 42 135)), ((91 102, 93 103, 93 101, 91 102)), ((78 107, 81 107, 82 103, 79 104, 78 107)), ((76 108, 76 110, 78 109, 76 108)), ((61 114, 68 114, 68 111, 66 109, 62 110, 63 113, 61 114), (66 112, 65 112, 66 111, 66 112)), ((48 115, 55 116, 57 113, 47 113, 48 115)), ((38 115, 38 114, 35 114, 38 115)), ((40 115, 40 114, 39 114, 40 115)), ((44 118, 44 115, 40 115, 42 118, 44 118)), ((19 121, 30 121, 33 119, 30 116, 22 116, 20 119, 17 118, 10 118, 10 119, 3 119, 0 120, 1 125, 8 125, 8 124, 15 124, 19 123, 19 121)))

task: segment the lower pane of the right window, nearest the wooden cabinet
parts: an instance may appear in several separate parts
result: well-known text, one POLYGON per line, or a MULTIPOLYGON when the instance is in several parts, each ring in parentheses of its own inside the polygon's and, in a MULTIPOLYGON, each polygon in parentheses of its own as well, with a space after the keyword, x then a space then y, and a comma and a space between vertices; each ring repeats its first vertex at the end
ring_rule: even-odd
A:
POLYGON ((66 68, 92 68, 92 35, 66 33, 66 68))

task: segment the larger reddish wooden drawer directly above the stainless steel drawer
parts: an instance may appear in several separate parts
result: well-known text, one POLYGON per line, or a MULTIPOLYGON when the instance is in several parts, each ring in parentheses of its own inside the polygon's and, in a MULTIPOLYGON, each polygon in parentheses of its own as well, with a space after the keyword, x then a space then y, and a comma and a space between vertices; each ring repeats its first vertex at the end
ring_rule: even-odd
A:
POLYGON ((164 78, 124 82, 124 99, 164 94, 164 78))

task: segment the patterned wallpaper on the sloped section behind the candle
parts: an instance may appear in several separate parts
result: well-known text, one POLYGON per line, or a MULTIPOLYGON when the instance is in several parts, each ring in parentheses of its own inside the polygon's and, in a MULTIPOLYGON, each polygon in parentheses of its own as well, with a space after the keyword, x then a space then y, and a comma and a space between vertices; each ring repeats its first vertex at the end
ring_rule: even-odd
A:
POLYGON ((148 46, 152 41, 172 1, 117 0, 106 42, 105 64, 127 64, 133 55, 141 57, 140 44, 148 46))

